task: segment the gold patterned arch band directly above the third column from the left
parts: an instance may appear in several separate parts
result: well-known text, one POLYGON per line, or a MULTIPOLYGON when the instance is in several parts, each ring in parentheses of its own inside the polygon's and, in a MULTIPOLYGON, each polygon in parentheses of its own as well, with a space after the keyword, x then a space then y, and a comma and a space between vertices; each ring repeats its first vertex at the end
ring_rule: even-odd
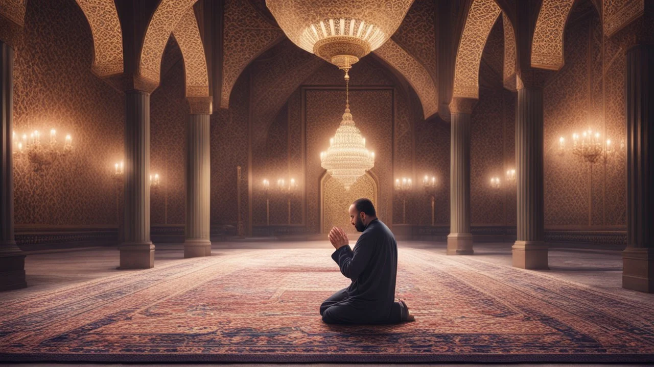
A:
POLYGON ((193 7, 188 8, 173 30, 173 36, 184 56, 186 97, 209 96, 209 76, 204 46, 193 7))

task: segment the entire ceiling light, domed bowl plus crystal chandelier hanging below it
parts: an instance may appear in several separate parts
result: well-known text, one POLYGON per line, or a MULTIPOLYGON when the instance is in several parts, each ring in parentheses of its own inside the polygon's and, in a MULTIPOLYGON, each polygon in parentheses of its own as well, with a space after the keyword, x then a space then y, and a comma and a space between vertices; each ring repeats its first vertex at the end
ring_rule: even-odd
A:
POLYGON ((375 164, 366 138, 354 125, 348 74, 352 65, 384 44, 398 29, 413 0, 266 0, 288 39, 345 71, 345 113, 322 168, 346 190, 375 164))

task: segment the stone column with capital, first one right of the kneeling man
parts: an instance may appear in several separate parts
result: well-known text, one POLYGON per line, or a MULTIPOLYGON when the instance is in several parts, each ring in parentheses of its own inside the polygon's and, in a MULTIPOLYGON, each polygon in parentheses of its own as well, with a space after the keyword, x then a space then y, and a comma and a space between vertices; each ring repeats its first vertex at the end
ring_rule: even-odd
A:
POLYGON ((470 125, 476 99, 450 103, 450 234, 447 255, 472 255, 470 233, 470 125))

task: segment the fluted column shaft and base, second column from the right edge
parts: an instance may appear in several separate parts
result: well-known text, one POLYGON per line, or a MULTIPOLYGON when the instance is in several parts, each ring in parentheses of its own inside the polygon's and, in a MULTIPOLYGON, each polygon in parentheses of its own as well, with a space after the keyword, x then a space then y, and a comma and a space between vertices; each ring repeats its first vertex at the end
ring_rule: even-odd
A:
POLYGON ((513 266, 547 269, 543 236, 543 88, 519 86, 515 114, 517 241, 513 266))

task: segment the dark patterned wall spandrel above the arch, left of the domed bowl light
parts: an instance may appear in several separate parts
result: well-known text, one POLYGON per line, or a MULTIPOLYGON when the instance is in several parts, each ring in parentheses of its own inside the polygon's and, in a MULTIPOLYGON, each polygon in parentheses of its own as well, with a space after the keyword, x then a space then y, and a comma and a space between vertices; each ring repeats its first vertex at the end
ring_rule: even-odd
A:
POLYGON ((284 32, 263 18, 248 0, 225 1, 220 108, 230 106, 232 88, 243 69, 283 38, 284 32))

